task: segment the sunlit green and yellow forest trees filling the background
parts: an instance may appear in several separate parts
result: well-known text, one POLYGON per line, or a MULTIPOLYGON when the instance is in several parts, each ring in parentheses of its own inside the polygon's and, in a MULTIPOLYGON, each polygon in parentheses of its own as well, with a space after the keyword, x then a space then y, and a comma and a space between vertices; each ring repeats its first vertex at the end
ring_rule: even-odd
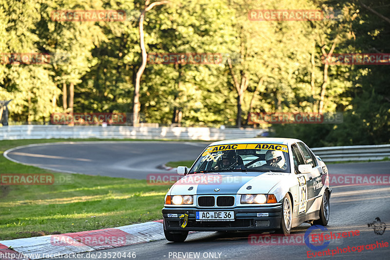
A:
MULTIPOLYGON (((343 112, 343 124, 273 126, 275 134, 302 136, 313 146, 389 143, 387 66, 326 68, 322 62, 333 44, 334 53, 390 53, 389 24, 362 2, 170 0, 156 6, 144 22, 148 53, 220 53, 223 59, 208 65, 147 64, 140 86, 143 120, 235 126, 238 93, 226 62, 231 57, 238 83, 242 79, 248 83, 239 115, 244 124, 250 111, 318 111, 323 88, 323 112, 343 112), (325 18, 250 21, 252 9, 320 9, 325 18)), ((0 53, 64 56, 50 64, 0 63, 0 100, 13 99, 10 120, 42 122, 50 113, 64 111, 63 83, 75 85, 75 112, 132 112, 141 63, 137 19, 144 4, 143 0, 0 0, 0 53), (127 19, 51 19, 52 11, 67 9, 122 9, 127 19)), ((390 17, 387 1, 365 4, 390 17)))

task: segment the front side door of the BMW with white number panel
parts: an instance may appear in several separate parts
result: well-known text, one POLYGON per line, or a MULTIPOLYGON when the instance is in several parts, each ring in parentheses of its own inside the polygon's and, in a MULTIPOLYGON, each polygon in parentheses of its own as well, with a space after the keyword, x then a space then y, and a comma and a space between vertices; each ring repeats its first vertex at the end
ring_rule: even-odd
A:
POLYGON ((294 173, 296 174, 296 178, 298 179, 298 187, 297 187, 297 201, 299 203, 298 207, 295 207, 294 205, 294 213, 297 211, 298 215, 305 214, 306 208, 307 208, 307 202, 308 202, 308 192, 307 192, 307 185, 308 185, 308 176, 305 173, 300 173, 298 170, 298 165, 305 164, 305 160, 303 158, 301 150, 298 148, 297 144, 291 145, 292 149, 292 159, 294 163, 294 173), (297 210, 295 211, 295 209, 297 210))

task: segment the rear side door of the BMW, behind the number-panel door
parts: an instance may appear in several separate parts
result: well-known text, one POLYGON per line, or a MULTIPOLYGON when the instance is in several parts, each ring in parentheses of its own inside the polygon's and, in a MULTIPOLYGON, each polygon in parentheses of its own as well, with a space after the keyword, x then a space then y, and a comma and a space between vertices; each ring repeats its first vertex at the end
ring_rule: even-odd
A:
POLYGON ((307 183, 307 209, 306 213, 311 213, 319 209, 321 205, 318 201, 321 200, 321 188, 322 188, 322 168, 318 165, 317 158, 313 155, 310 149, 301 142, 297 143, 300 151, 302 152, 304 163, 312 166, 310 173, 304 174, 307 183), (316 202, 317 200, 317 202, 316 202))

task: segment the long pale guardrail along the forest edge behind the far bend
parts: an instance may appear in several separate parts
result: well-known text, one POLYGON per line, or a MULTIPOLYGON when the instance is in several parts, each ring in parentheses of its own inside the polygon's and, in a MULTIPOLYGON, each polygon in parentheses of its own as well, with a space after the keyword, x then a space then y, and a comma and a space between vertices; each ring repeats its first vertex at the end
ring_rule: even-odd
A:
POLYGON ((206 127, 129 127, 129 126, 59 126, 22 125, 0 127, 0 140, 49 138, 107 138, 107 139, 173 139, 215 141, 234 138, 253 138, 263 129, 206 128, 206 127))

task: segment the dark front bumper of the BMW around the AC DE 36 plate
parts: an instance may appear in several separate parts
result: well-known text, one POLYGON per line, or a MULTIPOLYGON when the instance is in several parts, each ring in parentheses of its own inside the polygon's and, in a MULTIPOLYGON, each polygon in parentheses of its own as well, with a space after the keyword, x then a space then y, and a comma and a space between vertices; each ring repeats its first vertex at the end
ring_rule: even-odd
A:
POLYGON ((249 231, 275 230, 280 228, 282 204, 256 207, 196 208, 164 207, 162 209, 165 230, 167 231, 249 231), (234 211, 234 221, 196 221, 196 211, 234 211), (181 214, 188 214, 185 228, 181 228, 181 214), (268 213, 268 217, 257 217, 257 213, 268 213), (177 218, 168 218, 168 214, 177 214, 177 218))

